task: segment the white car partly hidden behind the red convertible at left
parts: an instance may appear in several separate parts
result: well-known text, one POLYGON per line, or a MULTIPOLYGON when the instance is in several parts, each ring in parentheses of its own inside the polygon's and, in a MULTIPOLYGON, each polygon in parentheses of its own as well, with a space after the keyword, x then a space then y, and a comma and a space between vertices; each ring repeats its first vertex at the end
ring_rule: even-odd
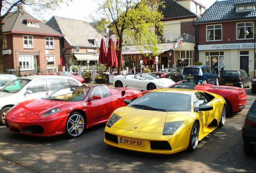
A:
POLYGON ((82 85, 68 76, 34 75, 12 80, 0 89, 0 124, 4 125, 4 115, 11 107, 22 101, 39 99, 63 85, 82 85))

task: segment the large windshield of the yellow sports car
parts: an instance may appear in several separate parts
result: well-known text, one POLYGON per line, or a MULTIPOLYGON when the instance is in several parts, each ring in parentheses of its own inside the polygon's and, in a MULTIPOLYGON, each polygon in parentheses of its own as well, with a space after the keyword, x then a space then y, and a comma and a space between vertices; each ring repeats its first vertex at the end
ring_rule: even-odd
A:
POLYGON ((128 106, 151 111, 191 111, 191 95, 169 92, 149 92, 128 106))

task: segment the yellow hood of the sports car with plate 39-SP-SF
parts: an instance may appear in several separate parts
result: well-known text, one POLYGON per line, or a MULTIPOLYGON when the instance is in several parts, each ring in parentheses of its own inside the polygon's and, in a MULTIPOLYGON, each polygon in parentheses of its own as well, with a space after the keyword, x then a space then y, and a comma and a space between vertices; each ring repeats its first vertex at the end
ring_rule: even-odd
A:
POLYGON ((147 133, 163 133, 165 122, 184 121, 184 116, 181 116, 181 112, 167 113, 121 107, 114 113, 121 116, 122 119, 117 121, 113 127, 147 133))

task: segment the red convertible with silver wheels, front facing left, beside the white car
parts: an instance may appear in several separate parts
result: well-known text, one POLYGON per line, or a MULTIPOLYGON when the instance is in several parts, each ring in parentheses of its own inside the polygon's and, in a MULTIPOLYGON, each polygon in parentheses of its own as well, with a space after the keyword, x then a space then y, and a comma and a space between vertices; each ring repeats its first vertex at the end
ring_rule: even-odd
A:
POLYGON ((85 128, 107 123, 124 99, 141 96, 135 89, 62 86, 43 99, 24 101, 5 115, 9 131, 32 136, 80 136, 85 128))

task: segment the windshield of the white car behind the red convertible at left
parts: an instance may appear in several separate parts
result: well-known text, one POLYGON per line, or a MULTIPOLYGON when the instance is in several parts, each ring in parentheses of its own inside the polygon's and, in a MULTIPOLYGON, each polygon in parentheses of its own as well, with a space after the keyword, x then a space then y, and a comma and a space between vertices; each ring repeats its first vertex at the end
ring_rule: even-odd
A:
POLYGON ((19 78, 7 83, 0 91, 5 93, 18 93, 31 80, 19 78))

